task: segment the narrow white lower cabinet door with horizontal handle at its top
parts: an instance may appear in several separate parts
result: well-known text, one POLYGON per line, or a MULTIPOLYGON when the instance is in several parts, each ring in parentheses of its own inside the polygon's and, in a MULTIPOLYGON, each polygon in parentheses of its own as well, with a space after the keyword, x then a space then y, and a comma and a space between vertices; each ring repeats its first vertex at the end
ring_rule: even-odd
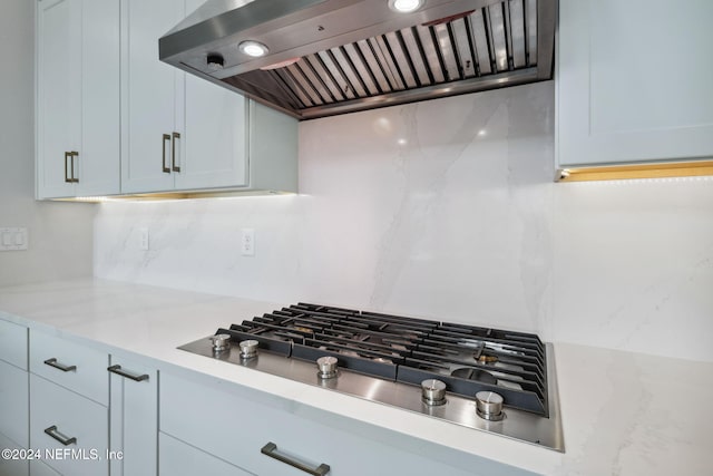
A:
POLYGON ((114 371, 109 449, 113 455, 120 451, 120 457, 110 459, 110 473, 155 476, 158 470, 158 372, 140 362, 115 356, 110 368, 114 371))

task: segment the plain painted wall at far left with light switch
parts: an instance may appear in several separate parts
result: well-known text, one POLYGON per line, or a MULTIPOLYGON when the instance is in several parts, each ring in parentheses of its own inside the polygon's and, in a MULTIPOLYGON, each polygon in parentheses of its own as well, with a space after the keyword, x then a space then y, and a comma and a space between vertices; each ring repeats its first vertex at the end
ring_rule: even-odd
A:
POLYGON ((0 285, 92 272, 96 207, 33 200, 33 4, 0 2, 0 227, 29 229, 28 251, 0 252, 0 285))

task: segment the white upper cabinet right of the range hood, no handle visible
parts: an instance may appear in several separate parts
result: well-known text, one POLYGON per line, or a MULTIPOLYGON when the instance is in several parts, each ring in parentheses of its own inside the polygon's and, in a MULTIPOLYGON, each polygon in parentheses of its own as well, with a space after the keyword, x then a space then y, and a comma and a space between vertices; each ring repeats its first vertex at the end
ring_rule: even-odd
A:
POLYGON ((713 2, 560 0, 560 167, 713 157, 713 2))

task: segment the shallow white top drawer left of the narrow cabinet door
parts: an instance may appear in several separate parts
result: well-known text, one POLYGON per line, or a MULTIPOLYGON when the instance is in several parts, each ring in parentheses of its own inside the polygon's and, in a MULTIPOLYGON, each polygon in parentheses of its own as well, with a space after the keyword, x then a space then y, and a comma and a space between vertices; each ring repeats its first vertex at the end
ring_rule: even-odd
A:
POLYGON ((30 332, 30 371, 104 406, 109 405, 107 367, 106 352, 56 336, 30 332))

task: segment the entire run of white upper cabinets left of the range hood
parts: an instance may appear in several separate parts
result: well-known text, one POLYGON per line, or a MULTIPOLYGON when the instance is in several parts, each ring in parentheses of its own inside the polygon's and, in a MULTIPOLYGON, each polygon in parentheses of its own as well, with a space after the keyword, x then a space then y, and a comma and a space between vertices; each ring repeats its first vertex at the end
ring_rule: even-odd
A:
POLYGON ((158 59, 203 0, 37 0, 37 197, 297 191, 297 122, 158 59))

